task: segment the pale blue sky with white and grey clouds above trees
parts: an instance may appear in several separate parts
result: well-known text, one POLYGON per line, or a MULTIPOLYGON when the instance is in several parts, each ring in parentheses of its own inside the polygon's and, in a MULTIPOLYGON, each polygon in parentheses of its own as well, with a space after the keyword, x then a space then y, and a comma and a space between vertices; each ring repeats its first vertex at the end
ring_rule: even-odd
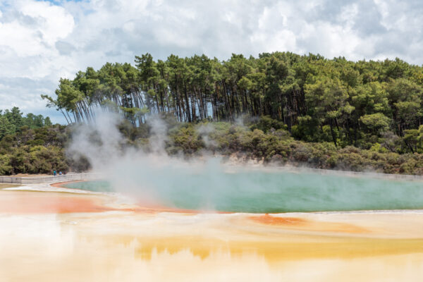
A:
POLYGON ((40 94, 106 61, 264 51, 423 63, 422 0, 0 0, 0 109, 48 114, 40 94))

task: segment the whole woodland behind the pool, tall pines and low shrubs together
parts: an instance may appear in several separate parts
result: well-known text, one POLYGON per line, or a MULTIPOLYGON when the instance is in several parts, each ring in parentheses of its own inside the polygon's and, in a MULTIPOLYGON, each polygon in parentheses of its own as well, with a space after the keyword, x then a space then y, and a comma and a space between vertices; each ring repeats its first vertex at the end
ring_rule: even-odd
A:
MULTIPOLYGON (((18 108, 0 111, 0 174, 81 171, 66 156, 98 109, 122 116, 123 147, 151 150, 149 114, 166 123, 164 149, 264 164, 423 175, 423 68, 276 52, 228 61, 207 56, 106 63, 42 95, 68 125, 18 108)), ((95 134, 95 133, 94 133, 95 134)), ((124 149, 124 148, 123 148, 124 149)))

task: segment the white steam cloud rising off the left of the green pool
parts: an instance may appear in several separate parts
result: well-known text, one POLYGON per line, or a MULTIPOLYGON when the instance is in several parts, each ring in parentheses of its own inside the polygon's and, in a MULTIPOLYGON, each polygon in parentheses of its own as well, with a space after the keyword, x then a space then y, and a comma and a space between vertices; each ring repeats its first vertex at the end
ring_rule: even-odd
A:
MULTIPOLYGON (((218 175, 223 173, 219 158, 186 161, 169 157, 165 150, 168 128, 158 116, 149 116, 147 120, 152 133, 150 152, 125 146, 125 138, 118 130, 120 121, 117 114, 99 112, 95 121, 78 126, 68 147, 68 154, 76 159, 87 158, 92 172, 111 183, 114 190, 135 195, 147 204, 164 204, 161 203, 163 196, 173 195, 176 183, 192 175, 201 175, 209 185, 214 185, 218 175)), ((212 130, 211 126, 200 128, 208 145, 214 144, 207 138, 212 130)), ((215 187, 219 190, 219 183, 215 183, 215 187)), ((198 189, 202 189, 202 185, 198 185, 198 189)), ((204 197, 197 199, 201 207, 213 209, 209 201, 211 195, 211 192, 204 192, 204 197)))

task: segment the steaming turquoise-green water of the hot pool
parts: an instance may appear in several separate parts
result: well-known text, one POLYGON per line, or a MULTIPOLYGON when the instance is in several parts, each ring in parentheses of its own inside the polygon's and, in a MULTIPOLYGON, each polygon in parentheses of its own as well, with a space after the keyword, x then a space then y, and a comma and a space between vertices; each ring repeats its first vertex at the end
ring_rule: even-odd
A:
POLYGON ((69 183, 66 187, 135 192, 140 197, 148 193, 168 207, 223 212, 423 209, 423 182, 315 173, 180 173, 140 180, 130 191, 107 181, 69 183))

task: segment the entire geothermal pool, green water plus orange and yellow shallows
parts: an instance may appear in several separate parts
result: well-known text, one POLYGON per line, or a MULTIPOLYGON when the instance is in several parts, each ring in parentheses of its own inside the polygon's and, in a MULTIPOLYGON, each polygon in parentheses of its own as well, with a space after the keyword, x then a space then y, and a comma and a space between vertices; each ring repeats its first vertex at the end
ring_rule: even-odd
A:
POLYGON ((152 171, 0 187, 0 281, 422 281, 422 181, 152 171))

